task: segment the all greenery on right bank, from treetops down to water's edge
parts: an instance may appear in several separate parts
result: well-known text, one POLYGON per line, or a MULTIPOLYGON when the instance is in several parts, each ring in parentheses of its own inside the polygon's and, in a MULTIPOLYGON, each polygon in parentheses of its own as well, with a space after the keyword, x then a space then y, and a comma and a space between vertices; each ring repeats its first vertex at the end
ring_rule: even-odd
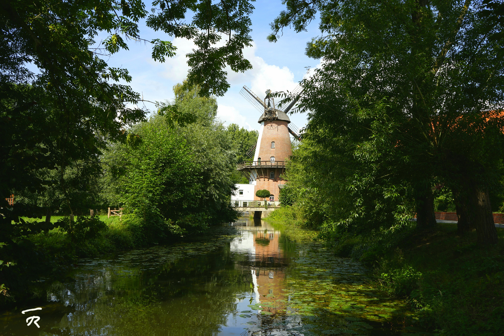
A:
POLYGON ((321 35, 306 54, 324 61, 301 82, 308 124, 280 192, 285 207, 270 220, 320 230, 439 334, 502 334, 504 242, 492 210, 504 200, 504 6, 286 7, 270 40, 317 13, 321 35), (458 224, 436 224, 436 210, 456 211, 458 224))

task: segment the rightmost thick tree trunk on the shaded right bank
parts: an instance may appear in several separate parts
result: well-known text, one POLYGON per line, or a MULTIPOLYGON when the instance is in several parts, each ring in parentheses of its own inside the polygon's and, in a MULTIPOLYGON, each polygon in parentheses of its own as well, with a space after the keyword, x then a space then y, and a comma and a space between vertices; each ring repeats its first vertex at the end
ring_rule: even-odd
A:
POLYGON ((488 189, 476 189, 476 234, 479 245, 497 244, 497 230, 493 222, 488 189))

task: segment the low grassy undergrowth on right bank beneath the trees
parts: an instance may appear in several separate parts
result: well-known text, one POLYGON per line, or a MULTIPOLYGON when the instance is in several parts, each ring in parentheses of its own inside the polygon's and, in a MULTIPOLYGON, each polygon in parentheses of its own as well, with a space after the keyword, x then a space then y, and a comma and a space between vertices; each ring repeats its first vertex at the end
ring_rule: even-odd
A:
MULTIPOLYGON (((268 221, 303 227, 296 206, 275 210, 268 221)), ((405 298, 414 314, 406 323, 439 335, 499 335, 504 330, 504 229, 498 244, 476 244, 457 224, 438 223, 427 231, 414 224, 386 236, 355 234, 341 228, 319 232, 334 253, 370 267, 373 288, 405 298)))

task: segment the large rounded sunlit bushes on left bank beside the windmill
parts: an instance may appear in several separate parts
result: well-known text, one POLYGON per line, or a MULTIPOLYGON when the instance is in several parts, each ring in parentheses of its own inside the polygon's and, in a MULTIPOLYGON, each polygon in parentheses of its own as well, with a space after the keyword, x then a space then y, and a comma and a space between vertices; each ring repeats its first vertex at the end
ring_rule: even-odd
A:
POLYGON ((174 92, 173 102, 133 127, 137 144, 110 144, 103 159, 103 196, 125 208, 125 223, 139 245, 201 232, 236 216, 229 199, 238 149, 216 120, 215 98, 182 85, 174 92), (192 115, 192 122, 173 122, 166 113, 173 109, 184 120, 192 115))

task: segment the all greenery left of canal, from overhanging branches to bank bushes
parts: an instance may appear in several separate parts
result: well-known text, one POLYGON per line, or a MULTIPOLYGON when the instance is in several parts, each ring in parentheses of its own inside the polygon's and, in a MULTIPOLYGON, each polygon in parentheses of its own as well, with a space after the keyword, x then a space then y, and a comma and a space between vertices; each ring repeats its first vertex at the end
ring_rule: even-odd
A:
MULTIPOLYGON (((223 220, 234 216, 223 205, 232 191, 228 174, 235 173, 230 167, 238 151, 215 120, 215 96, 229 88, 226 67, 234 72, 251 68, 242 49, 251 46, 253 9, 247 0, 155 1, 150 12, 139 0, 3 4, 0 305, 28 298, 32 281, 57 272, 68 259, 37 240, 54 224, 70 239, 66 255, 79 239, 92 241, 105 232, 103 222, 83 217, 89 209, 121 203, 128 213, 123 217, 127 232, 121 234, 129 235, 134 246, 201 231, 222 213, 228 216, 223 220), (149 111, 139 107, 142 96, 128 84, 128 70, 107 64, 128 50, 131 40, 151 46, 154 61, 175 55, 170 41, 143 39, 143 26, 196 45, 187 55, 185 89, 175 102, 158 102, 160 114, 149 120, 149 111), (205 98, 191 101, 195 96, 205 98), (198 114, 200 107, 204 111, 198 114), (177 170, 186 175, 172 179, 177 170), (116 190, 104 190, 107 182, 116 190), (12 193, 13 206, 5 200, 12 193), (116 203, 109 204, 111 199, 116 203), (52 223, 52 215, 68 217, 52 223), (37 220, 43 216, 46 221, 37 220)), ((237 126, 233 132, 243 133, 237 126)), ((57 237, 54 244, 63 244, 57 237)))

